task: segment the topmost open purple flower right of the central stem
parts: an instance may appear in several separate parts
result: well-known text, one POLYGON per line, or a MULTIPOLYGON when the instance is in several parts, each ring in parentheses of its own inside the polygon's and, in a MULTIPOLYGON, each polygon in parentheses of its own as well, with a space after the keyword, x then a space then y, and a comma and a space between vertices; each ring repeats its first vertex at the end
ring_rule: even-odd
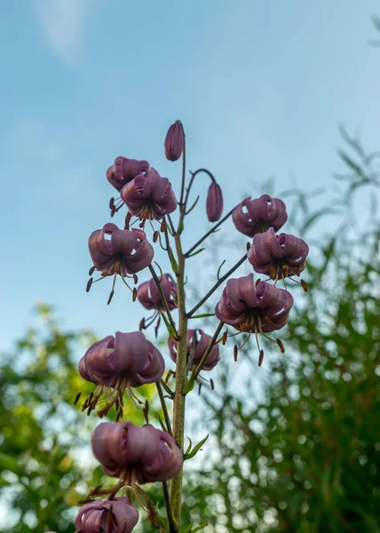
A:
POLYGON ((265 232, 269 227, 278 231, 287 219, 285 203, 269 195, 262 195, 255 200, 246 198, 233 212, 236 229, 249 237, 265 232))

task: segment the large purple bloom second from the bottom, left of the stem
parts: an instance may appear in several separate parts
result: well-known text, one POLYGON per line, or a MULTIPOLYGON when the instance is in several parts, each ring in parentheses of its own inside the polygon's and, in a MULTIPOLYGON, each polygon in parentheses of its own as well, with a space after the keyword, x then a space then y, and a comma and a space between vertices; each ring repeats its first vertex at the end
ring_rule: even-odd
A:
POLYGON ((91 435, 94 456, 108 475, 135 481, 167 481, 178 474, 182 452, 173 437, 153 426, 131 422, 104 422, 91 435))

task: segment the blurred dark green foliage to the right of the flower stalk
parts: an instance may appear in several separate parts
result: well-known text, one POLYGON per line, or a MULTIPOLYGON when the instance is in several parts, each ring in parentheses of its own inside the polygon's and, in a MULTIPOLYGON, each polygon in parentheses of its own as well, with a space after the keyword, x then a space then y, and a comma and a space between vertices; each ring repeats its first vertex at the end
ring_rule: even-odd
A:
MULTIPOLYGON (((380 224, 376 211, 359 207, 357 225, 353 197, 364 186, 376 196, 379 176, 345 136, 359 160, 339 152, 349 167, 343 220, 308 261, 305 298, 291 287, 285 354, 267 343, 258 369, 252 342, 219 369, 218 392, 202 393, 214 453, 190 476, 186 502, 210 531, 380 531, 380 224), (243 376, 231 387, 239 364, 261 373, 261 394, 253 380, 242 386, 243 376)), ((313 213, 304 215, 305 232, 313 213)))

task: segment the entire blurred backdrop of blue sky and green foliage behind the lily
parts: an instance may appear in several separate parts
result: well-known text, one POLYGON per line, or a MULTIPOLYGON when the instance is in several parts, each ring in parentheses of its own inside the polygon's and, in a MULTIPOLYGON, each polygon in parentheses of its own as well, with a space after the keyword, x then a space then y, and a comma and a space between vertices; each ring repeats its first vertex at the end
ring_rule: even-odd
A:
MULTIPOLYGON (((379 531, 378 3, 18 0, 0 13, 0 530, 74 531, 75 505, 107 482, 91 457, 96 418, 73 405, 91 392, 76 365, 144 313, 123 286, 110 306, 110 286, 86 294, 87 239, 109 221, 115 156, 148 160, 178 192, 163 140, 180 118, 188 169, 214 173, 225 211, 281 197, 284 230, 311 248, 285 354, 266 346, 258 369, 252 340, 238 362, 227 345, 215 391, 189 399, 186 434, 210 437, 186 463, 184 523, 379 531)), ((206 187, 194 187, 188 246, 209 229, 206 187)), ((190 301, 245 243, 231 223, 211 238, 187 268, 190 301)), ((213 319, 197 325, 210 333, 213 319)), ((156 423, 154 389, 139 392, 156 423)))

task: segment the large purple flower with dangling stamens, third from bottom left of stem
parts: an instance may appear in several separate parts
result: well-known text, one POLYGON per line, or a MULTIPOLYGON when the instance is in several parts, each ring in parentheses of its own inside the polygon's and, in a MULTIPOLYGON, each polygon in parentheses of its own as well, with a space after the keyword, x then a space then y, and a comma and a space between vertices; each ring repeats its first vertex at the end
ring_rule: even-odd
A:
POLYGON ((78 369, 83 379, 98 386, 91 398, 84 402, 83 409, 95 409, 104 394, 107 405, 98 413, 102 417, 115 403, 118 415, 123 414, 125 389, 133 401, 131 387, 159 381, 165 363, 162 354, 140 331, 116 331, 115 337, 108 335, 93 344, 83 355, 78 369), (110 393, 109 387, 113 392, 110 393))

